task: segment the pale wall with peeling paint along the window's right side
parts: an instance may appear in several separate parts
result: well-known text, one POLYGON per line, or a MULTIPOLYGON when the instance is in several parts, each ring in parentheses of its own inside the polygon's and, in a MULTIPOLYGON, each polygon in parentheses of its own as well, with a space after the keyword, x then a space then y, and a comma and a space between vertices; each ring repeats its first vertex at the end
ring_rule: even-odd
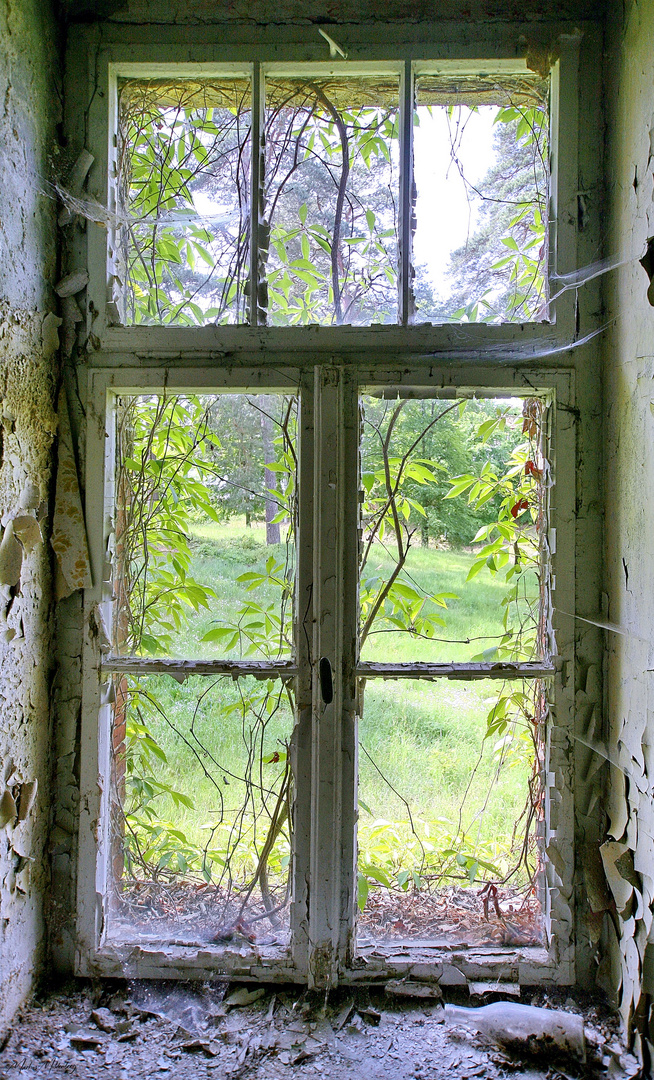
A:
MULTIPOLYGON (((617 5, 616 5, 617 9, 617 5)), ((654 234, 654 5, 609 23, 604 474, 605 731, 611 757, 601 856, 612 893, 600 982, 652 1067, 654 1017, 654 292, 639 265, 654 234)), ((651 1075, 651 1072, 648 1072, 651 1075)))

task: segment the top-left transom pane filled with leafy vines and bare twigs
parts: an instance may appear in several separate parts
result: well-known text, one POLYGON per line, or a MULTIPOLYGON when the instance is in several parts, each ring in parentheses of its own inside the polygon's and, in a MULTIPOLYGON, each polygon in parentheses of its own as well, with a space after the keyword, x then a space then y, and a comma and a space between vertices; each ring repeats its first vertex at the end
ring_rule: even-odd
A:
POLYGON ((121 84, 125 323, 245 321, 250 152, 248 80, 121 84))

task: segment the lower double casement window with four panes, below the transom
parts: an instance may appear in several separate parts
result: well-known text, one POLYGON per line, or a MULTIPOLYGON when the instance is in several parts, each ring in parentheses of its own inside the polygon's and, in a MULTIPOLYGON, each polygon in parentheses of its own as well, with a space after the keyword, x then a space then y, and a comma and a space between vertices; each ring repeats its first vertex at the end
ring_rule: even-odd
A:
MULTIPOLYGON (((271 970, 313 964, 316 982, 412 940, 544 964, 561 707, 550 713, 549 465, 569 453, 555 423, 566 380, 168 374, 165 388, 155 372, 93 376, 109 435, 93 537, 106 551, 94 621, 110 638, 99 955, 128 968, 134 946, 188 946, 233 971, 261 954, 271 970), (450 444, 466 433, 481 456, 452 475, 450 444), (444 514, 454 538, 478 535, 473 550, 450 558, 444 514), (440 549, 427 537, 413 551, 421 527, 440 549), (467 805, 446 768, 452 740, 460 769, 489 750, 467 805), (508 788, 502 768, 519 778, 508 788), (486 879, 487 902, 495 881, 520 886, 507 936, 444 918, 462 878, 486 879), (330 974, 322 954, 302 957, 337 917, 330 974)), ((553 490, 559 505, 570 497, 553 490)))

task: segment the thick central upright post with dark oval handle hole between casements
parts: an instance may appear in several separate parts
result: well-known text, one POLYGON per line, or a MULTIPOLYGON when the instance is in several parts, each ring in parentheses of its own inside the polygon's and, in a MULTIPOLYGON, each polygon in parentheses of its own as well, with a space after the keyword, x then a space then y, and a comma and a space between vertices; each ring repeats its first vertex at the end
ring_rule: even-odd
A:
POLYGON ((338 982, 354 934, 356 807, 356 386, 315 380, 310 985, 338 982), (317 661, 321 661, 319 665, 317 661), (331 671, 331 692, 319 670, 331 671))

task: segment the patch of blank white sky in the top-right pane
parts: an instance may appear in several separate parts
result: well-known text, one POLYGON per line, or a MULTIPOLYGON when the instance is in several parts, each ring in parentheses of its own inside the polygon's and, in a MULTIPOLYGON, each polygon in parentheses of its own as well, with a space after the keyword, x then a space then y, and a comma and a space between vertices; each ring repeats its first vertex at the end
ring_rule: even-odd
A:
MULTIPOLYGON (((451 159, 451 138, 455 137, 457 112, 464 126, 457 145, 457 156, 469 184, 478 185, 493 163, 493 117, 496 106, 478 112, 454 110, 448 129, 447 110, 419 108, 420 124, 413 129, 413 158, 418 200, 418 228, 413 240, 414 262, 425 264, 426 274, 442 297, 450 292, 445 273, 450 253, 461 247, 475 231, 480 202, 466 195, 466 187, 451 159)), ((474 193, 473 193, 474 194, 474 193)))

